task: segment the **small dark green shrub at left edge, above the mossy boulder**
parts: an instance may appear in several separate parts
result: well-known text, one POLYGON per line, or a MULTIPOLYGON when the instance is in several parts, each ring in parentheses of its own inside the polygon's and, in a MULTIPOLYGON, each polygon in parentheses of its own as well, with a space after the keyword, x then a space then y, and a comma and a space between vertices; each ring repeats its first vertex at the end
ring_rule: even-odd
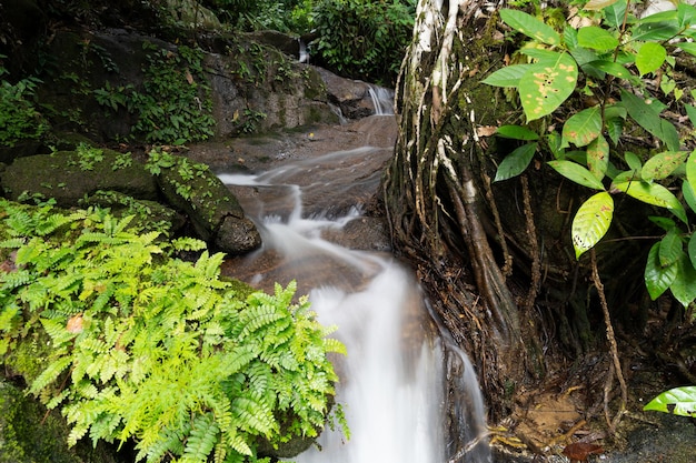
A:
MULTIPOLYGON (((0 56, 0 60, 3 58, 0 56)), ((0 77, 6 73, 0 64, 0 77)), ((39 82, 36 78, 14 84, 0 80, 0 144, 13 147, 21 140, 38 140, 48 130, 48 122, 32 101, 39 82)))

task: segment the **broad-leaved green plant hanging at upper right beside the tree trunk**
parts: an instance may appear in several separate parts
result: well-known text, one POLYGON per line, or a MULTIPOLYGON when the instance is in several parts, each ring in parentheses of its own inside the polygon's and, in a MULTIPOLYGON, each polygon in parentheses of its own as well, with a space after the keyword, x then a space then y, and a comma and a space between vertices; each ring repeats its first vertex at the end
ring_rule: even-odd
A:
POLYGON ((558 173, 595 190, 573 221, 578 259, 608 231, 614 195, 658 208, 648 219, 664 235, 648 255, 645 283, 654 300, 669 289, 688 306, 696 299, 689 221, 696 212, 696 90, 680 87, 677 59, 696 56, 696 7, 680 2, 636 18, 626 0, 616 0, 588 2, 584 12, 579 27, 566 22, 559 33, 523 11, 500 11, 529 40, 511 66, 484 80, 516 89, 527 120, 498 129, 498 137, 523 144, 500 163, 496 180, 518 175, 541 151, 553 153, 548 164, 558 173), (591 103, 575 111, 578 95, 591 103), (560 123, 554 124, 551 113, 563 114, 560 123))

